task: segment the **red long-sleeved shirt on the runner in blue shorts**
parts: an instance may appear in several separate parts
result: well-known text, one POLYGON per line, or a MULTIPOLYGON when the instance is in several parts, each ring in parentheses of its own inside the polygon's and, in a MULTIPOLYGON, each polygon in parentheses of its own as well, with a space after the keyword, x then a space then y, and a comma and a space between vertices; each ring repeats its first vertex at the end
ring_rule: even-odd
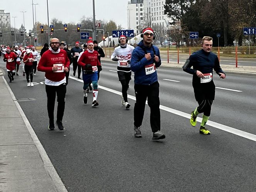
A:
POLYGON ((91 66, 101 65, 98 59, 98 51, 90 53, 84 51, 81 57, 79 58, 78 65, 85 67, 86 64, 91 64, 91 66))

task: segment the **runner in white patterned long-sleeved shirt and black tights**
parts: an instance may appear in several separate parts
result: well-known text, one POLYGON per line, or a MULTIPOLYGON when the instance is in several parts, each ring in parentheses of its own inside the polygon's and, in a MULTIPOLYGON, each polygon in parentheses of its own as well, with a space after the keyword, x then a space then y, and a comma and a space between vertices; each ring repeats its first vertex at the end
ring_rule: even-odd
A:
POLYGON ((121 103, 125 105, 126 109, 129 109, 131 105, 128 103, 127 90, 131 80, 130 61, 134 47, 127 44, 128 39, 125 35, 121 35, 118 40, 121 45, 115 48, 111 59, 118 61, 117 74, 122 85, 121 103))

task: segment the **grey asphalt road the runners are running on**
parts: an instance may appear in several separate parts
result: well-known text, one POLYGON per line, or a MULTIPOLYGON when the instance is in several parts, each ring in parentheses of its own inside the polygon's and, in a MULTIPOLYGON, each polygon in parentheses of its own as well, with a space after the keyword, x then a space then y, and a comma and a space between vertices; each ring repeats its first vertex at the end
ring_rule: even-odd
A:
MULTIPOLYGON (((141 126, 143 137, 134 138, 135 101, 129 99, 130 110, 121 106, 116 94, 121 91, 116 64, 102 65, 98 108, 90 105, 92 93, 89 104, 84 105, 83 83, 69 79, 64 131, 47 130, 44 73, 34 76, 34 82, 41 82, 34 87, 27 87, 22 76, 9 83, 17 99, 35 98, 19 104, 68 191, 256 190, 255 141, 223 131, 221 126, 208 126, 211 135, 201 135, 200 123, 191 127, 189 119, 168 110, 161 110, 161 130, 166 139, 152 141, 148 106, 141 126)), ((2 61, 0 66, 5 66, 2 61)), ((216 89, 210 120, 256 135, 255 78, 227 73, 223 80, 214 74, 216 87, 233 90, 216 89)), ((160 104, 189 115, 197 106, 192 75, 160 67, 158 79, 160 104)), ((133 81, 128 94, 135 96, 133 81)))

